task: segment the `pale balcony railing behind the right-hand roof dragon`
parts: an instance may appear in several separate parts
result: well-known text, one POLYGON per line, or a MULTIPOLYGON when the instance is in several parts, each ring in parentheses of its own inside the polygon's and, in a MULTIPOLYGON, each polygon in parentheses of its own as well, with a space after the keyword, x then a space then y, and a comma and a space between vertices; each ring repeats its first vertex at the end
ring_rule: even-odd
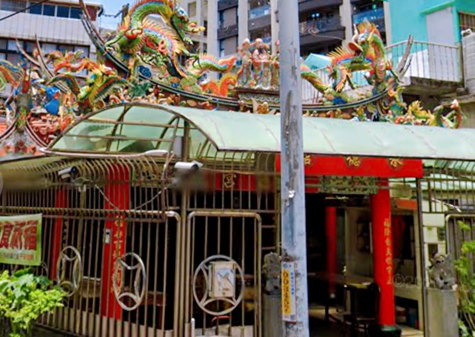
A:
MULTIPOLYGON (((397 67, 408 41, 402 41, 386 47, 386 59, 397 67)), ((405 77, 421 78, 428 80, 445 81, 452 83, 462 82, 462 50, 461 46, 444 45, 438 43, 414 41, 411 47, 410 64, 405 77)), ((331 85, 333 82, 328 78, 325 68, 315 70, 322 81, 331 85)), ((356 85, 366 84, 362 71, 353 73, 353 81, 356 85)), ((350 90, 347 84, 345 90, 350 90)), ((315 103, 322 98, 322 94, 316 91, 310 83, 302 82, 302 99, 304 103, 315 103)))

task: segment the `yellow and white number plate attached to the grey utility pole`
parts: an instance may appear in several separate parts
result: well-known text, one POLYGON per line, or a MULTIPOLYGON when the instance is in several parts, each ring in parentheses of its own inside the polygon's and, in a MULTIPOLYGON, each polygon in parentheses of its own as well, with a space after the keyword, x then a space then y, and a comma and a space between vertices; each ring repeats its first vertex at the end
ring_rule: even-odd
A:
POLYGON ((297 322, 297 308, 295 302, 295 263, 282 262, 282 320, 297 322))

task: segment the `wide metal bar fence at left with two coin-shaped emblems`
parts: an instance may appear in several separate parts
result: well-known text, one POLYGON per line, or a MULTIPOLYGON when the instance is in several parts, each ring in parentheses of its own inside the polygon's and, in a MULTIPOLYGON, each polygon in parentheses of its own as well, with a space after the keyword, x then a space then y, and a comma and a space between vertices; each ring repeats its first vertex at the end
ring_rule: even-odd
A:
POLYGON ((168 204, 176 198, 163 164, 46 159, 2 174, 2 214, 43 214, 36 272, 67 293, 64 307, 40 324, 86 336, 173 333, 180 217, 168 204), (74 173, 65 179, 58 173, 68 167, 74 173))

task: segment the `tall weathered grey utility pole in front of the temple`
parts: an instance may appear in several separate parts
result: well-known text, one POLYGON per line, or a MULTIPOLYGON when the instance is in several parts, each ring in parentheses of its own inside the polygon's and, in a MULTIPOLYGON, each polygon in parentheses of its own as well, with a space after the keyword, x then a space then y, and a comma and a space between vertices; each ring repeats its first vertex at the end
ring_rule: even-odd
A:
POLYGON ((282 319, 285 337, 307 337, 305 177, 297 0, 279 0, 282 319))

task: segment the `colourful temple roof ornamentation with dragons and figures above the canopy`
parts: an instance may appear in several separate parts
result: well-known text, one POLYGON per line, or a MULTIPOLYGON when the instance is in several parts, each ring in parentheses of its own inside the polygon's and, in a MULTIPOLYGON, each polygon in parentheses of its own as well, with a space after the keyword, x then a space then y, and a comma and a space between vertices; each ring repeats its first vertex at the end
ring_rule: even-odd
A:
MULTIPOLYGON (((127 102, 279 114, 278 43, 271 52, 261 39, 246 39, 237 57, 222 59, 193 52, 190 36, 204 27, 190 20, 176 1, 150 0, 131 7, 116 32, 105 38, 80 3, 84 26, 100 54, 97 61, 81 52, 44 53, 39 43, 32 54, 19 47, 20 64, 0 60, 0 88, 7 84, 12 88, 2 107, 8 130, 14 125, 15 137, 23 132, 31 135, 29 141, 14 145, 10 143, 15 137, 5 132, 0 138, 1 156, 19 148, 34 154, 91 111, 127 102), (220 74, 219 79, 212 73, 220 74)), ((302 80, 322 97, 316 104, 304 105, 303 116, 458 128, 462 111, 457 101, 433 110, 419 101, 404 102, 401 79, 410 48, 411 43, 400 64, 392 65, 377 27, 362 22, 347 46, 329 54, 330 84, 302 62, 302 80), (364 72, 364 86, 353 80, 355 72, 364 72), (345 90, 348 87, 350 91, 345 90)))

